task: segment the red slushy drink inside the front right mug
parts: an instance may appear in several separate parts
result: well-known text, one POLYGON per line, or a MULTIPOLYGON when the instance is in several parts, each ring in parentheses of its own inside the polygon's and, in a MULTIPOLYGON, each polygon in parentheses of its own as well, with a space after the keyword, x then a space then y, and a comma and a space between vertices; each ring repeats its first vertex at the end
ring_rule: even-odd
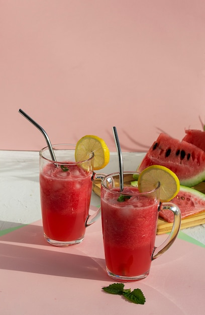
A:
POLYGON ((114 191, 119 189, 105 189, 101 193, 107 271, 115 278, 124 278, 124 281, 126 277, 130 277, 130 280, 132 277, 134 280, 136 277, 140 279, 142 275, 147 276, 150 270, 159 201, 149 195, 138 194, 136 187, 125 187, 123 193, 132 197, 119 202, 119 194, 114 191))

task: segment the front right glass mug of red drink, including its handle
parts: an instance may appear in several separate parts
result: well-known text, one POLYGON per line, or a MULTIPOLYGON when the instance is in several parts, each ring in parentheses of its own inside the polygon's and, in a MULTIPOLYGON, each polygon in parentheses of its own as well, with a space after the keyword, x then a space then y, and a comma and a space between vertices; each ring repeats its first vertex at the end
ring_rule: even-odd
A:
POLYGON ((160 205, 160 183, 149 192, 133 187, 134 172, 124 172, 124 190, 120 192, 119 173, 101 181, 101 220, 106 269, 118 281, 135 281, 149 275, 151 262, 174 242, 180 229, 181 213, 173 203, 160 205), (155 247, 158 212, 174 213, 172 230, 166 241, 155 247))

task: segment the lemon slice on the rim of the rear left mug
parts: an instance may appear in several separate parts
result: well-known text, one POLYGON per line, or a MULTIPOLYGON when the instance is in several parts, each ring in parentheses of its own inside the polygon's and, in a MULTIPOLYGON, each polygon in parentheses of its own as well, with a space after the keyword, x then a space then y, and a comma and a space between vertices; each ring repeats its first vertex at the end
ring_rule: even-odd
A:
POLYGON ((89 159, 92 152, 94 153, 93 169, 103 169, 109 163, 110 151, 106 142, 97 136, 86 135, 78 140, 75 147, 75 161, 89 159))

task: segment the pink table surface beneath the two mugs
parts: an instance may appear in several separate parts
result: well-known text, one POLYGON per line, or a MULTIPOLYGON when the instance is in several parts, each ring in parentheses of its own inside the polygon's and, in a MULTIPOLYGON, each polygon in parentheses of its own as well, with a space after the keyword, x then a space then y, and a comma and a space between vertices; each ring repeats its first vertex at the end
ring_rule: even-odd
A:
MULTIPOLYGON (((157 243, 166 237, 157 235, 157 243)), ((0 237, 0 313, 202 314, 204 266, 204 248, 177 239, 146 279, 125 283, 146 297, 144 305, 133 304, 101 290, 116 281, 105 271, 100 220, 69 248, 47 244, 40 220, 0 237)))

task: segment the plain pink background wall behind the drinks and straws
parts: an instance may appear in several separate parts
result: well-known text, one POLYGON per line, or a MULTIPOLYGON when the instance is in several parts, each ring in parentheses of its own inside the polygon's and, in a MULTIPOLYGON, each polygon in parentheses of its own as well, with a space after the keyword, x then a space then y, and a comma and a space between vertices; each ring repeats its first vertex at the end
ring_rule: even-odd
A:
POLYGON ((0 149, 146 151, 205 123, 204 0, 0 0, 0 149), (200 118, 200 119, 199 119, 200 118))

